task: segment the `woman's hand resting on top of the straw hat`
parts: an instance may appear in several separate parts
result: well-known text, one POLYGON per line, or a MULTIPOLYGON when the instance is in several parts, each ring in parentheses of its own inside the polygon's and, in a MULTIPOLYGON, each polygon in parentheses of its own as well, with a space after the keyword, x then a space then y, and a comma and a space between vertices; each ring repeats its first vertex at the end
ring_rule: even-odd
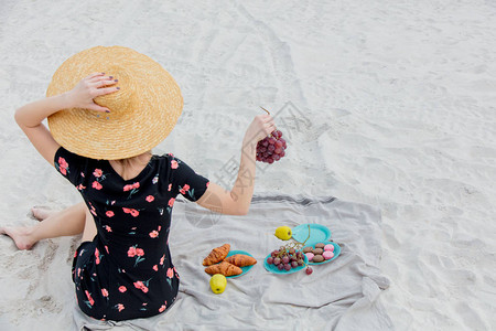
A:
POLYGON ((117 82, 112 76, 106 76, 105 73, 90 74, 66 93, 67 108, 83 108, 110 113, 110 109, 107 107, 95 104, 94 98, 119 90, 118 86, 111 86, 117 82))

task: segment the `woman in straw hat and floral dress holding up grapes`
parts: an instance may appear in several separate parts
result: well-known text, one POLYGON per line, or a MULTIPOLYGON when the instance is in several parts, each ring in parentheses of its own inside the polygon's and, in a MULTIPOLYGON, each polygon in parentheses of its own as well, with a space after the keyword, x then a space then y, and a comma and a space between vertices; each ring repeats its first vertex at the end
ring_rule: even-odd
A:
POLYGON ((248 127, 237 181, 226 191, 171 153, 151 153, 174 127, 183 99, 148 56, 119 46, 83 51, 57 70, 47 96, 19 108, 15 120, 84 203, 58 213, 33 209, 43 222, 0 233, 19 249, 83 234, 72 271, 78 307, 89 317, 118 321, 163 312, 179 288, 168 239, 176 195, 246 214, 254 183, 241 185, 239 174, 255 178, 256 145, 274 130, 272 118, 259 115, 248 127))

